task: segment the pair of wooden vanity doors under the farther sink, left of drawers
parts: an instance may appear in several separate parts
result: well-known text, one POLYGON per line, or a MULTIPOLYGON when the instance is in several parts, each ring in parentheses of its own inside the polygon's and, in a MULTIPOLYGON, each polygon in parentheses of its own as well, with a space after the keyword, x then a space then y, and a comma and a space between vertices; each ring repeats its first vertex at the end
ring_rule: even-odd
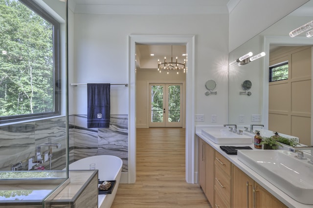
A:
POLYGON ((199 184, 211 205, 214 204, 214 148, 199 139, 199 184))

